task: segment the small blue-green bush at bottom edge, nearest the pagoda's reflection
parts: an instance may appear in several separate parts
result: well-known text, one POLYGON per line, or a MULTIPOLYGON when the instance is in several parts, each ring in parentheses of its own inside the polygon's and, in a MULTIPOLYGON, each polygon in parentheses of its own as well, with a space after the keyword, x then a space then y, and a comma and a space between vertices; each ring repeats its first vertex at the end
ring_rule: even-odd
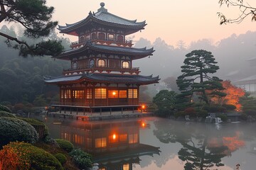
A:
POLYGON ((84 152, 81 149, 73 149, 73 151, 70 152, 70 156, 72 157, 73 162, 80 169, 92 167, 92 155, 88 154, 87 152, 84 152))

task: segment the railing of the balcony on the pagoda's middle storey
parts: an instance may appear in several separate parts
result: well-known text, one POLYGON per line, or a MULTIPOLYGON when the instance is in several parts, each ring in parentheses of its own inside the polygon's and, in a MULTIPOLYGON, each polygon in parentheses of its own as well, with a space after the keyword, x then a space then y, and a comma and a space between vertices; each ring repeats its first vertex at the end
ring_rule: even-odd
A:
POLYGON ((102 70, 102 71, 116 71, 116 72, 138 72, 139 67, 132 68, 122 68, 122 67, 96 67, 96 66, 87 66, 87 67, 77 67, 70 69, 63 69, 63 73, 67 72, 82 72, 82 71, 92 71, 92 70, 102 70))

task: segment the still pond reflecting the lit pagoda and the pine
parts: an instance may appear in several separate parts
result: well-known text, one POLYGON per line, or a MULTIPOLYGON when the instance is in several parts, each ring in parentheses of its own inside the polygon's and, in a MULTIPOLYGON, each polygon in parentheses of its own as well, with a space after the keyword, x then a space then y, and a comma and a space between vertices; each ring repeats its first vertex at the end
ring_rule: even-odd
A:
POLYGON ((53 138, 90 152, 101 170, 256 167, 256 124, 206 124, 163 118, 87 122, 48 118, 53 138))

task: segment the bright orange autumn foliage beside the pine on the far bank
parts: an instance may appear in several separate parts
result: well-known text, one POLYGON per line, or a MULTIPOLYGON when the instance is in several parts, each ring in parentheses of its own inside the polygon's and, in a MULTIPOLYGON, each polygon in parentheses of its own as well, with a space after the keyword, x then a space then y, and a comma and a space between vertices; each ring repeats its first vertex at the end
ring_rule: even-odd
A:
POLYGON ((222 81, 221 84, 223 84, 223 87, 225 88, 221 92, 227 94, 227 96, 222 98, 212 98, 212 101, 220 105, 234 105, 238 111, 241 111, 242 106, 239 103, 239 98, 245 96, 245 91, 237 86, 233 86, 229 80, 222 81))

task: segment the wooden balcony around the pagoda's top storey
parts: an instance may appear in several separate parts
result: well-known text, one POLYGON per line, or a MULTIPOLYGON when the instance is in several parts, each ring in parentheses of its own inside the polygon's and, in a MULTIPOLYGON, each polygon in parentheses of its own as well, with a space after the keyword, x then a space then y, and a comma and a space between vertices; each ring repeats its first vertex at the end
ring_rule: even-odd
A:
MULTIPOLYGON (((117 45, 119 47, 132 47, 132 40, 124 40, 123 42, 119 42, 113 39, 99 39, 99 38, 94 38, 92 40, 90 40, 91 42, 95 42, 101 45, 117 45)), ((81 47, 82 45, 84 45, 84 43, 86 42, 86 40, 82 41, 82 42, 72 42, 70 47, 72 49, 74 48, 78 48, 81 47)))

